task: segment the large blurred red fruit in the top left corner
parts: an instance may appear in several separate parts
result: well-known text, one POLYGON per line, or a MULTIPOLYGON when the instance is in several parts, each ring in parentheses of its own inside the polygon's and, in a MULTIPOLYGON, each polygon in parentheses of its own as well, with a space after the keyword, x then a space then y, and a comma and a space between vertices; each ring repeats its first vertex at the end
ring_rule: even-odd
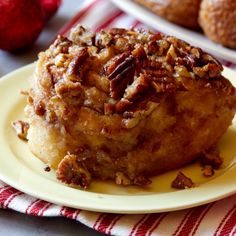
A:
POLYGON ((0 0, 0 49, 12 52, 32 45, 44 22, 39 0, 0 0))

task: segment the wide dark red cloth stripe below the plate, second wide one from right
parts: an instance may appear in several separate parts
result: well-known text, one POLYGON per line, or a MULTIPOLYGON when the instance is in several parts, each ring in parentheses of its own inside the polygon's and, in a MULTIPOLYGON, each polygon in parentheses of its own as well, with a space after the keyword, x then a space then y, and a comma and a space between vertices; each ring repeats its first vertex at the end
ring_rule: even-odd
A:
POLYGON ((181 231, 179 232, 179 235, 189 235, 198 222, 201 214, 203 211, 208 207, 208 205, 203 205, 200 207, 196 207, 190 216, 188 217, 187 221, 185 222, 184 226, 182 227, 181 231))

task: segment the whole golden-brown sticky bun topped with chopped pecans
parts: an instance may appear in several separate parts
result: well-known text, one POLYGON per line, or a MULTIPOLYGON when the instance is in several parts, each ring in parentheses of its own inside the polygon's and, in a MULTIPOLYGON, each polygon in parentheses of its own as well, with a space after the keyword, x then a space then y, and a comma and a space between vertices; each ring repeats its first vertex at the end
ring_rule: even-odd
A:
POLYGON ((71 186, 147 185, 207 155, 231 124, 236 93, 222 70, 175 37, 77 26, 39 54, 28 145, 71 186))

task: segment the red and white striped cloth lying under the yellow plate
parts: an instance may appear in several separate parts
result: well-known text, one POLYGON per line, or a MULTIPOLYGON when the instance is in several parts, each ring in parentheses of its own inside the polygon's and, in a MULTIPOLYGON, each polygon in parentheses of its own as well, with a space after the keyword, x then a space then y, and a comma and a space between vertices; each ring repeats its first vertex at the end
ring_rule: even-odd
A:
MULTIPOLYGON (((107 27, 146 27, 108 0, 89 0, 60 31, 80 23, 93 30, 107 27)), ((236 69, 236 65, 223 61, 236 69)), ((236 195, 203 206, 155 214, 109 214, 58 206, 24 194, 0 181, 0 207, 34 216, 77 220, 108 235, 236 235, 236 195)))

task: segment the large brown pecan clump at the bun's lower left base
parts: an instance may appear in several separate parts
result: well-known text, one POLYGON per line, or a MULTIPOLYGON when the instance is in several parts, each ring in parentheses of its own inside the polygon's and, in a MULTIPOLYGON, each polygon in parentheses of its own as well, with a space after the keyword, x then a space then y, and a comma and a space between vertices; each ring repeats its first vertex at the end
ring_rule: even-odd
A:
POLYGON ((91 182, 91 175, 85 164, 74 154, 66 155, 57 168, 57 178, 62 182, 86 189, 91 182))

